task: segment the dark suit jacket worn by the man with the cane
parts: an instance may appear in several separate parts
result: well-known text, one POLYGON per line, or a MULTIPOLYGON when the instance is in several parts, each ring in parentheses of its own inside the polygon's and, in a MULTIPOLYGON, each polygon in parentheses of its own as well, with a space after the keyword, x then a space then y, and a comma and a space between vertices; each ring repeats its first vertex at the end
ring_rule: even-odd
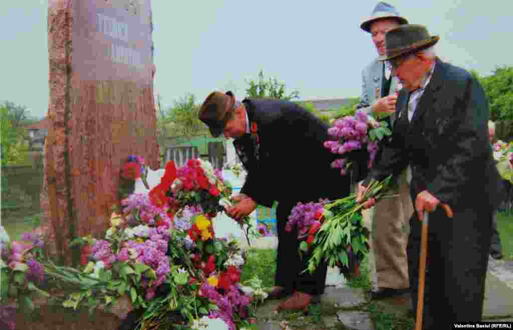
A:
POLYGON ((427 189, 453 209, 496 208, 502 191, 488 142, 488 105, 479 82, 467 71, 437 59, 409 124, 403 118, 408 99, 409 91, 402 89, 392 141, 364 184, 370 178, 397 175, 411 165, 413 203, 427 189))

